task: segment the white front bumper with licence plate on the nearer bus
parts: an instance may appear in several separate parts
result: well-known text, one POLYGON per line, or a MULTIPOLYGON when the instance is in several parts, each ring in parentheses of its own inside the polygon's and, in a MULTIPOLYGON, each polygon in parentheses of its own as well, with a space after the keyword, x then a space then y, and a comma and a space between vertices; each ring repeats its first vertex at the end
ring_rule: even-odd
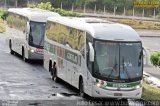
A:
POLYGON ((92 97, 98 98, 141 98, 142 87, 130 91, 107 90, 96 85, 93 86, 92 97))

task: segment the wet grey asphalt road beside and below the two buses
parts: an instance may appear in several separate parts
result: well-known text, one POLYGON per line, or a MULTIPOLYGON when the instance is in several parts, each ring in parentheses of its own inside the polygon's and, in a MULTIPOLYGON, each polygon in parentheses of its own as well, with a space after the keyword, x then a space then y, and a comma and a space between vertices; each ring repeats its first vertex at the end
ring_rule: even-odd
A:
POLYGON ((41 62, 11 55, 6 39, 0 34, 0 106, 145 106, 141 100, 83 99, 65 82, 53 82, 41 62))

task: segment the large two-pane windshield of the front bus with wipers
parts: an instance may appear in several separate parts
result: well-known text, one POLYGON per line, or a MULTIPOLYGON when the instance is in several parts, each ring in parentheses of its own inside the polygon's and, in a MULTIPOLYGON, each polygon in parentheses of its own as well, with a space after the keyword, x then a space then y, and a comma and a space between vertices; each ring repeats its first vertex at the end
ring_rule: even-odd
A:
POLYGON ((110 80, 142 77, 141 43, 95 41, 95 76, 110 80))

